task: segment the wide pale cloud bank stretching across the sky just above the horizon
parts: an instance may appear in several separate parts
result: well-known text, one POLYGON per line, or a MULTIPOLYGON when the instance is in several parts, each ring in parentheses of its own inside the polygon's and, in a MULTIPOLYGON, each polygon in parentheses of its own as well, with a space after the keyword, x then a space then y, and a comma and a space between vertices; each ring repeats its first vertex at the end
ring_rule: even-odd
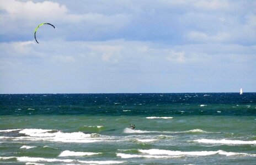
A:
MULTIPOLYGON (((7 93, 157 92, 159 85, 175 86, 178 81, 189 82, 182 92, 193 92, 189 87, 191 83, 200 84, 199 79, 206 82, 205 86, 200 84, 200 89, 207 91, 208 83, 223 85, 227 78, 253 77, 256 72, 256 46, 58 40, 39 45, 31 41, 7 42, 0 43, 0 48, 0 92, 7 93), (14 45, 20 50, 15 50, 14 45), (23 49, 25 53, 19 53, 23 49), (63 82, 66 83, 61 85, 63 82), (40 88, 35 84, 40 84, 40 88)), ((176 89, 183 89, 183 85, 176 89)))

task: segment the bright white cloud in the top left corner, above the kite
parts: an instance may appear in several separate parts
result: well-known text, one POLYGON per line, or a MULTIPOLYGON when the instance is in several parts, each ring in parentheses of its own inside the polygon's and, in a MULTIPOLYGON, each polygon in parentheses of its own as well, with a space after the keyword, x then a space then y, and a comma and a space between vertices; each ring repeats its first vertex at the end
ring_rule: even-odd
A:
MULTIPOLYGON (((95 24, 116 24, 119 21, 129 20, 129 15, 111 14, 104 15, 100 13, 83 13, 72 14, 67 9, 66 5, 61 5, 56 2, 44 1, 34 3, 32 1, 19 2, 17 0, 2 0, 0 1, 0 9, 7 12, 5 19, 22 19, 22 20, 48 20, 61 21, 63 23, 87 23, 95 24)), ((3 16, 2 16, 3 19, 3 16)))

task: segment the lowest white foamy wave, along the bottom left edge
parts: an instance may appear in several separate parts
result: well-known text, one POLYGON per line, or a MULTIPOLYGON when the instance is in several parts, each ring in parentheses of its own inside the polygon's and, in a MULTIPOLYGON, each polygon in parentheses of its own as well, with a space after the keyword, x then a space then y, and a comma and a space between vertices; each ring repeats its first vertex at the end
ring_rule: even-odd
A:
POLYGON ((16 159, 19 162, 63 162, 63 163, 86 163, 86 164, 119 164, 124 163, 124 161, 81 161, 81 160, 72 160, 72 159, 57 159, 57 158, 42 158, 42 157, 0 157, 0 160, 10 160, 16 159))

